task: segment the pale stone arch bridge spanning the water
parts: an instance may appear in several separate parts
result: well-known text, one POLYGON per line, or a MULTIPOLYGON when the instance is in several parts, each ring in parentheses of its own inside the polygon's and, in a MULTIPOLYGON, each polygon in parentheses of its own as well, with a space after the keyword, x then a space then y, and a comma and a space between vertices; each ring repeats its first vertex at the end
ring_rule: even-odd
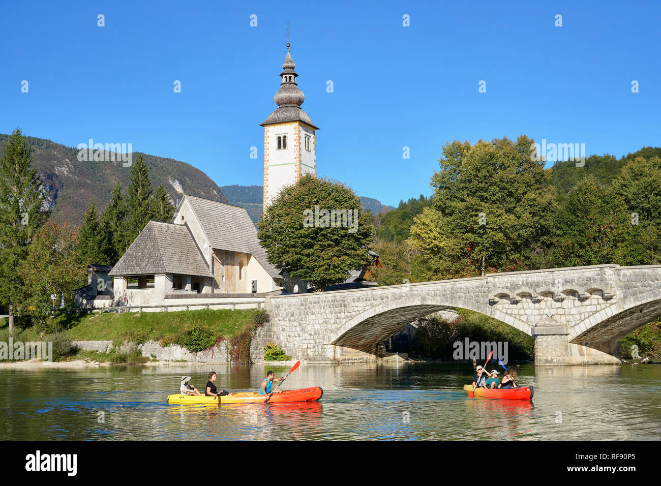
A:
POLYGON ((470 309, 535 337, 535 364, 617 364, 619 340, 661 315, 661 265, 598 265, 274 296, 266 343, 314 362, 369 360, 378 344, 419 317, 470 309))

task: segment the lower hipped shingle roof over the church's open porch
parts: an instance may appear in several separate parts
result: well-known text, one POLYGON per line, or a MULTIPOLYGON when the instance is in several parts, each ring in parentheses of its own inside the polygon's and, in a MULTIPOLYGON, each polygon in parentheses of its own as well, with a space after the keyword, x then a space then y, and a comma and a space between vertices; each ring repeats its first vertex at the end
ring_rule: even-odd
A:
POLYGON ((212 277, 188 227, 150 221, 108 275, 161 273, 212 277))

